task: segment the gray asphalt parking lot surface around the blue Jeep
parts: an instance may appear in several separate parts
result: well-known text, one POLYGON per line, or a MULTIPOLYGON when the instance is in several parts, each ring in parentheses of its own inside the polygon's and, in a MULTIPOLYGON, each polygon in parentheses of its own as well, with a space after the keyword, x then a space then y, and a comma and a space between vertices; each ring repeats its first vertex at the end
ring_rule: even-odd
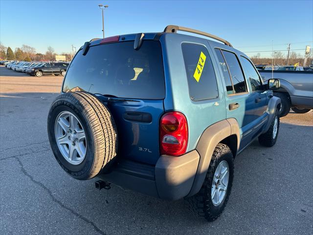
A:
POLYGON ((313 112, 281 119, 272 148, 251 144, 235 159, 228 204, 207 223, 184 200, 152 198, 96 179, 77 181, 57 164, 46 118, 62 76, 0 67, 0 234, 313 234, 313 112))

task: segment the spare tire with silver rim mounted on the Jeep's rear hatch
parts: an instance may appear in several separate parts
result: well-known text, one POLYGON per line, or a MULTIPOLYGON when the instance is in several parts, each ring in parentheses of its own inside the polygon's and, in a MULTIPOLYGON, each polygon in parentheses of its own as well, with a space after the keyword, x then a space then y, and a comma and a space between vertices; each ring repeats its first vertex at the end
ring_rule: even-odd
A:
POLYGON ((60 94, 47 120, 52 152, 72 177, 87 180, 108 171, 117 153, 117 130, 109 109, 93 94, 60 94))

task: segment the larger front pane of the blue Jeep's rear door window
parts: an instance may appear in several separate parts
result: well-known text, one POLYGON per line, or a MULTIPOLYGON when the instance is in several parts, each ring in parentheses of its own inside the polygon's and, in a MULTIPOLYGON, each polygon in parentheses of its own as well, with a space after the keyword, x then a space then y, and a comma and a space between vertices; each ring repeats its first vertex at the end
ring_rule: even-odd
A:
POLYGON ((225 51, 225 50, 222 50, 222 51, 223 51, 223 55, 225 57, 225 60, 226 60, 226 63, 230 72, 230 76, 234 85, 235 93, 247 92, 245 77, 244 77, 243 71, 241 70, 237 56, 232 52, 225 51))

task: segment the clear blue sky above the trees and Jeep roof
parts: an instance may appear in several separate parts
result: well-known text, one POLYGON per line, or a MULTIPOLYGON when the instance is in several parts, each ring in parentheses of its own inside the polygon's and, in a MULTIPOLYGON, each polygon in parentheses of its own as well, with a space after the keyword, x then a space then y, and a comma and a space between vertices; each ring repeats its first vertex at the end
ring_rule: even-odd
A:
POLYGON ((100 3, 109 5, 106 36, 159 32, 178 24, 218 35, 245 52, 271 50, 272 40, 274 50, 286 49, 287 43, 291 49, 313 46, 313 0, 0 0, 0 41, 13 50, 26 44, 38 52, 48 46, 69 52, 72 44, 79 48, 102 37, 100 3))

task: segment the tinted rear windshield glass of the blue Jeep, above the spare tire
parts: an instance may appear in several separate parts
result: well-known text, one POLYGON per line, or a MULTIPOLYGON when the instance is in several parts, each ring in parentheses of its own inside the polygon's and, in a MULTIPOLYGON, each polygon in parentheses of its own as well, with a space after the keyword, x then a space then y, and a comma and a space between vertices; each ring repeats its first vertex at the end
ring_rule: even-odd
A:
POLYGON ((165 82, 161 45, 143 41, 139 50, 134 41, 90 47, 70 64, 63 92, 87 91, 123 98, 163 99, 165 82))

